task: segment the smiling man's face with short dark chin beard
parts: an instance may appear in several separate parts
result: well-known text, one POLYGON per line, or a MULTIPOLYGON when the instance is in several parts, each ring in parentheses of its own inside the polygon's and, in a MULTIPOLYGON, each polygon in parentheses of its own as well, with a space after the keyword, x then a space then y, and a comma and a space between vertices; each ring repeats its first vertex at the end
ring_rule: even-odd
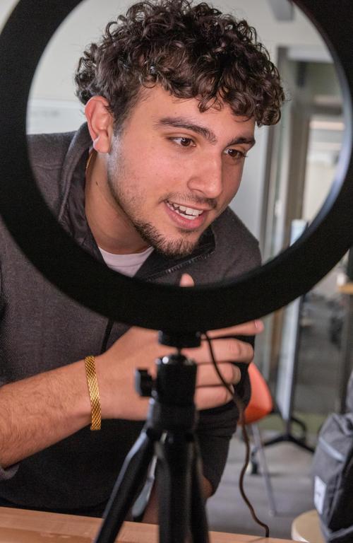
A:
POLYGON ((107 158, 119 220, 165 255, 188 255, 237 193, 253 132, 228 105, 201 113, 194 98, 147 89, 107 158))

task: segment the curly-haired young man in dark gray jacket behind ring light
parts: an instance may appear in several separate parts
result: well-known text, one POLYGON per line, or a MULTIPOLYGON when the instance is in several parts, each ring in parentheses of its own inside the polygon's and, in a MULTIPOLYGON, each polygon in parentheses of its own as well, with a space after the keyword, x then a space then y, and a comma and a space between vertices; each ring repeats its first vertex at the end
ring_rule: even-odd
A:
MULTIPOLYGON (((87 124, 30 140, 44 197, 76 243, 122 273, 185 286, 258 265, 256 240, 227 206, 255 124, 277 122, 283 92, 245 21, 186 0, 136 4, 85 51, 76 85, 87 124)), ((153 370, 166 348, 57 291, 4 227, 0 243, 0 505, 100 515, 147 411, 134 369, 153 370)), ((227 334, 251 341, 261 327, 227 334)), ((249 363, 252 346, 222 333, 212 334, 220 370, 246 401, 233 362, 249 363)), ((198 363, 209 496, 238 414, 208 347, 185 352, 198 363)))

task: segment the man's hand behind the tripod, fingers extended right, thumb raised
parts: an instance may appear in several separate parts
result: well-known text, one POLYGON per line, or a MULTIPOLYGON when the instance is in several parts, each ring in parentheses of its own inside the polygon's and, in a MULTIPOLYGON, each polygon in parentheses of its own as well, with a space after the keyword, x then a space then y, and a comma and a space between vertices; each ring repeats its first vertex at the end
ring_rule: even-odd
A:
MULTIPOLYGON (((188 274, 181 277, 181 286, 193 286, 188 274)), ((247 322, 225 329, 213 330, 213 351, 225 381, 237 385, 240 370, 234 362, 250 363, 253 348, 245 341, 222 336, 253 336, 263 330, 261 321, 247 322)), ((141 398, 134 387, 137 368, 145 368, 155 376, 155 359, 168 353, 168 347, 158 344, 157 332, 132 327, 104 354, 97 356, 96 370, 100 388, 102 417, 106 419, 143 420, 148 410, 148 398, 141 398)), ((211 362, 206 341, 196 349, 184 349, 183 354, 198 364, 195 402, 198 409, 209 409, 229 402, 231 396, 220 383, 211 362)))

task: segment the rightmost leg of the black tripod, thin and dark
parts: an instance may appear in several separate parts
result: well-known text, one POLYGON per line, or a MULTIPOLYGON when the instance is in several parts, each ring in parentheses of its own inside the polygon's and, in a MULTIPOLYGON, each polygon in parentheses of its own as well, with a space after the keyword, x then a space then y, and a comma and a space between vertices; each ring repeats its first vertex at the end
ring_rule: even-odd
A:
POLYGON ((201 455, 197 441, 193 444, 191 477, 191 534, 193 543, 208 543, 208 522, 203 499, 201 455))

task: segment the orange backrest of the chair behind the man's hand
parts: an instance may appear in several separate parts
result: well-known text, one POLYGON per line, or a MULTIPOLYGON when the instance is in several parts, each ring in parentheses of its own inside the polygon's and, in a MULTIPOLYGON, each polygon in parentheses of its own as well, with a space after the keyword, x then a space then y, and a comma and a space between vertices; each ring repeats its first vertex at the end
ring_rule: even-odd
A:
POLYGON ((249 364, 251 397, 245 409, 245 424, 253 424, 273 410, 273 399, 263 375, 255 364, 249 364))

